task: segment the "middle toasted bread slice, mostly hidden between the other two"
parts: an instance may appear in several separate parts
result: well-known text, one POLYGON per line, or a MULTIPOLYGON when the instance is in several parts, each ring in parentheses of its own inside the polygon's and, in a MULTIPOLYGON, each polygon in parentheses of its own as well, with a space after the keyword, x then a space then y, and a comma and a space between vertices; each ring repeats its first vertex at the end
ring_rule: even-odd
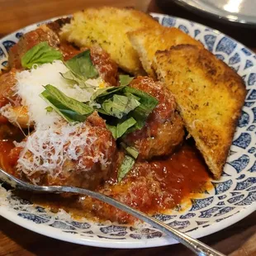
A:
POLYGON ((143 68, 152 78, 155 77, 152 61, 157 50, 167 50, 173 45, 203 45, 175 27, 158 26, 154 30, 143 28, 127 33, 131 45, 138 52, 143 68))

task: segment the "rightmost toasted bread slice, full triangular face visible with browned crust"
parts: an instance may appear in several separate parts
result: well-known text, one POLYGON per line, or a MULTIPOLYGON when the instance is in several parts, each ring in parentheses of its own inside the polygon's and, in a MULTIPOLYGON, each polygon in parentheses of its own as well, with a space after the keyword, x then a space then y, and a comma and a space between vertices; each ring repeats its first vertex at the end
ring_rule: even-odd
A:
POLYGON ((246 90, 242 78, 195 45, 157 51, 154 69, 173 92, 187 131, 215 178, 220 178, 246 90))

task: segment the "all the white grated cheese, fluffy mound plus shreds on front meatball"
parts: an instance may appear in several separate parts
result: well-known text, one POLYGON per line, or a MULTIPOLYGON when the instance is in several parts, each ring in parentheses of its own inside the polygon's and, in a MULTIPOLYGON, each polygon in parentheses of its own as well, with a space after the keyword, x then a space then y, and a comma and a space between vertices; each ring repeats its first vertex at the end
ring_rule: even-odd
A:
MULTIPOLYGON (((88 166, 84 164, 88 160, 101 164, 102 169, 110 164, 107 154, 97 148, 99 143, 92 126, 87 122, 69 124, 55 111, 45 110, 49 105, 40 97, 40 93, 45 90, 43 86, 47 84, 55 86, 65 95, 80 102, 87 102, 92 93, 100 85, 102 87, 101 78, 89 79, 90 88, 73 86, 60 74, 67 71, 62 61, 55 60, 52 64, 34 65, 31 70, 16 74, 17 84, 14 90, 21 98, 21 105, 27 107, 30 121, 35 127, 26 140, 16 143, 16 146, 22 148, 17 160, 17 170, 31 177, 33 183, 40 183, 40 177, 33 177, 37 172, 57 178, 60 173, 63 177, 70 168, 88 171, 88 166)), ((10 106, 3 107, 2 114, 15 119, 15 116, 8 113, 10 106)))

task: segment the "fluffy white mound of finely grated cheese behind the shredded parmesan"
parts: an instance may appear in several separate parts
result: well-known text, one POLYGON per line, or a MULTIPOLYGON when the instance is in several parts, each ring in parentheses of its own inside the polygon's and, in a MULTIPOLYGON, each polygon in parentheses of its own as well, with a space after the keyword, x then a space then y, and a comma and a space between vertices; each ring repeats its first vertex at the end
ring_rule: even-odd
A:
POLYGON ((79 88, 78 85, 70 85, 60 74, 67 71, 67 67, 61 60, 55 60, 52 64, 35 65, 31 70, 23 70, 17 73, 17 95, 21 97, 21 104, 28 107, 30 119, 36 125, 40 123, 50 125, 60 119, 55 111, 50 113, 45 111, 45 107, 49 105, 40 97, 40 93, 45 90, 45 85, 51 84, 64 92, 65 95, 79 102, 87 102, 101 83, 100 80, 91 79, 95 80, 91 81, 95 89, 90 90, 79 88))

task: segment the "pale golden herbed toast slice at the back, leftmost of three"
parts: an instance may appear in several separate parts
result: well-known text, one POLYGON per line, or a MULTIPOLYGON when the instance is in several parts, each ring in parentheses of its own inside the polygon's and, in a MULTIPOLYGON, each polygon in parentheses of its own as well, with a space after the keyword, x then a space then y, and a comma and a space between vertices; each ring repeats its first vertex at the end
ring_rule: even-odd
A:
POLYGON ((160 26, 144 12, 131 8, 88 8, 74 13, 70 24, 62 28, 60 36, 80 47, 100 45, 121 69, 128 73, 145 73, 139 56, 130 44, 126 32, 141 27, 160 26))

